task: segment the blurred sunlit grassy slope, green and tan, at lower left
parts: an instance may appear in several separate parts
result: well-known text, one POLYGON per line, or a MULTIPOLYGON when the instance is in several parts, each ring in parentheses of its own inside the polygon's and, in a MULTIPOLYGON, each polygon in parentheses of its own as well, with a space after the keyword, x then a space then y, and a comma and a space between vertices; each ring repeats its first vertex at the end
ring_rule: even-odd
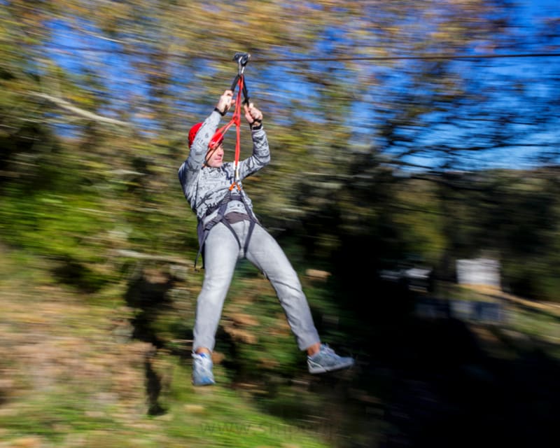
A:
POLYGON ((262 412, 220 384, 193 388, 190 360, 119 342, 124 304, 91 304, 48 275, 49 261, 2 248, 0 446, 325 447, 311 428, 262 412), (148 415, 146 362, 165 412, 148 415))

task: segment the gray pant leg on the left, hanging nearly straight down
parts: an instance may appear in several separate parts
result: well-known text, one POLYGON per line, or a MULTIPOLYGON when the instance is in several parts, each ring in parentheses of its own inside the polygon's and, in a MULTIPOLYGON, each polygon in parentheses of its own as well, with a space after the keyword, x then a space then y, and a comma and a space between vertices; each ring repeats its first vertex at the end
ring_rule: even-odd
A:
POLYGON ((193 351, 200 347, 214 350, 223 302, 238 258, 237 239, 225 225, 216 224, 204 244, 204 281, 197 298, 193 351))

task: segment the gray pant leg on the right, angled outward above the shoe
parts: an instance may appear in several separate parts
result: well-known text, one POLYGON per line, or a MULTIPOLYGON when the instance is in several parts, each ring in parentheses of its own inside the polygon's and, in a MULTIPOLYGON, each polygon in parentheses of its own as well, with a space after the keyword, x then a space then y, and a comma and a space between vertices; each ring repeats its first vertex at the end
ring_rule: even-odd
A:
POLYGON ((245 256, 272 284, 300 350, 320 342, 300 279, 276 239, 255 225, 245 256))

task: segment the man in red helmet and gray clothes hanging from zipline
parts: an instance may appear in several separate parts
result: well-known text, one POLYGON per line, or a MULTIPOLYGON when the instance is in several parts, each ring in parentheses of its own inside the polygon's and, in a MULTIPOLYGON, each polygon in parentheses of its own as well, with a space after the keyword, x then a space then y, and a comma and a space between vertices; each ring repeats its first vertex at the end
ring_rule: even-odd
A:
MULTIPOLYGON (((251 128, 253 154, 239 165, 224 162, 220 119, 232 106, 232 90, 225 90, 204 123, 188 135, 190 153, 179 168, 179 181, 198 218, 204 281, 197 299, 193 330, 193 384, 214 384, 211 352, 237 260, 247 258, 269 279, 285 311, 297 346, 307 351, 311 373, 330 372, 353 365, 353 358, 338 356, 321 339, 297 274, 276 240, 258 223, 241 180, 268 165, 270 152, 262 127, 262 112, 244 104, 251 128)), ((239 107, 240 111, 240 107, 239 107)), ((238 134, 239 136, 239 134, 238 134)), ((238 137, 239 145, 239 137, 238 137)))

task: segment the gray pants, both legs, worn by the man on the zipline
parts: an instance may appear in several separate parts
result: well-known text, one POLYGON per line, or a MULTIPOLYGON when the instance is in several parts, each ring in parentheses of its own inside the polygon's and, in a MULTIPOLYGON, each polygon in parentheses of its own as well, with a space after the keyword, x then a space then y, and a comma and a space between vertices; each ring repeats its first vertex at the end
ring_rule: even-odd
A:
POLYGON ((193 351, 201 347, 214 351, 223 302, 230 288, 237 260, 243 257, 269 279, 300 350, 320 342, 300 280, 272 235, 260 225, 255 225, 247 253, 243 253, 249 224, 249 221, 232 224, 241 248, 231 230, 222 223, 216 224, 206 239, 204 281, 197 299, 193 351))

